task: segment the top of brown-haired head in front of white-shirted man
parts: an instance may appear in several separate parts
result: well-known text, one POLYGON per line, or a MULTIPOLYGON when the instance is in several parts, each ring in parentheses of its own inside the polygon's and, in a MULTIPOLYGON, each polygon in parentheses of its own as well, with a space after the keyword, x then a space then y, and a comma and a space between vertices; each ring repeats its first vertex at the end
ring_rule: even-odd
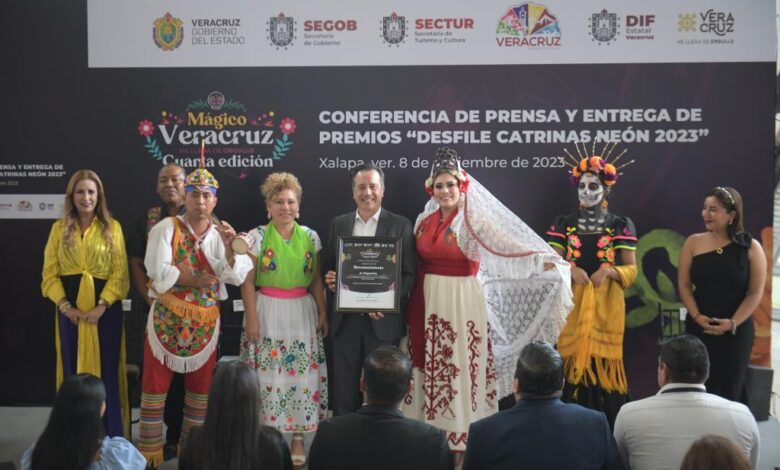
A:
POLYGON ((750 461, 730 439, 709 434, 691 445, 680 470, 750 470, 750 461))

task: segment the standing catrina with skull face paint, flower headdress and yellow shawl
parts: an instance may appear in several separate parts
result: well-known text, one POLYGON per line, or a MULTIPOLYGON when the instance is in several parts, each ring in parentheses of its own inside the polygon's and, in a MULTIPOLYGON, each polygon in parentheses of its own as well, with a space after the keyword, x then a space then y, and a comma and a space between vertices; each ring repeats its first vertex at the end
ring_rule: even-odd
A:
POLYGON ((618 180, 616 164, 625 150, 609 160, 617 144, 577 147, 570 181, 577 187, 578 208, 555 218, 547 242, 571 264, 574 310, 558 338, 564 359, 563 400, 604 411, 614 425, 628 399, 623 366, 625 300, 623 290, 636 278, 636 229, 628 217, 608 211, 607 197, 618 180))

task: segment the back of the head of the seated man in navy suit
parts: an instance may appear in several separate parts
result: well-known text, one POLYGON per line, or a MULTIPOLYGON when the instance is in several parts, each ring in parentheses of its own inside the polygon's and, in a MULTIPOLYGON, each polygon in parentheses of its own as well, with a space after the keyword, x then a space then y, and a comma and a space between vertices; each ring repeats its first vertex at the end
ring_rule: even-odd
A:
POLYGON ((523 398, 548 397, 563 388, 563 360, 546 341, 527 344, 517 359, 515 379, 523 398))

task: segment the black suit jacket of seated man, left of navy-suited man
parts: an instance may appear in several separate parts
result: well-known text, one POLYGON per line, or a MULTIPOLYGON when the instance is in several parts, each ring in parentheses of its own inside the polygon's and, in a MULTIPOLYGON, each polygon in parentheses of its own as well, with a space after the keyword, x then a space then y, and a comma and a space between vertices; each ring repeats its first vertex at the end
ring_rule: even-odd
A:
POLYGON ((444 470, 452 454, 444 433, 405 418, 397 408, 363 405, 322 421, 309 452, 309 470, 444 470))

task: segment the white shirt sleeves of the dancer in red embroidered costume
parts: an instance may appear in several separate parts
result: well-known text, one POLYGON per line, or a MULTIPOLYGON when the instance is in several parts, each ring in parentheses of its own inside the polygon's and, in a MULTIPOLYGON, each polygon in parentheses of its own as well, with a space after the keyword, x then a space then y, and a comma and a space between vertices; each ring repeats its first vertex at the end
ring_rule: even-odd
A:
MULTIPOLYGON (((184 220, 183 216, 177 217, 184 220)), ((149 297, 157 298, 158 293, 167 292, 179 279, 181 271, 172 264, 172 240, 173 220, 170 217, 161 220, 149 231, 149 241, 144 257, 146 272, 152 280, 149 297)), ((225 300, 228 298, 225 283, 240 286, 247 273, 252 270, 252 259, 247 255, 237 254, 231 267, 225 255, 225 244, 213 225, 203 236, 200 247, 206 256, 206 261, 214 270, 214 274, 219 277, 219 300, 225 300)))

